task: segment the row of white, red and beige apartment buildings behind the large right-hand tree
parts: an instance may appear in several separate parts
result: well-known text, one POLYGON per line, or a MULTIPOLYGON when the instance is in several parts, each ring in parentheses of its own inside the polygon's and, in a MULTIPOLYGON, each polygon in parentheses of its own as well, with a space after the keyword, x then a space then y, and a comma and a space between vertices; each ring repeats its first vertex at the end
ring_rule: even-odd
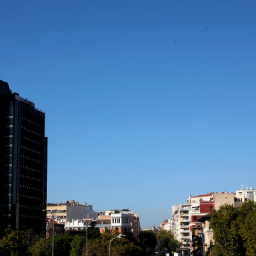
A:
POLYGON ((182 243, 183 248, 194 251, 197 244, 203 244, 203 251, 210 247, 213 241, 213 230, 210 228, 210 213, 218 210, 221 205, 231 204, 239 207, 247 200, 255 200, 253 187, 243 186, 235 193, 211 192, 189 196, 187 203, 172 206, 171 230, 174 238, 182 243), (197 239, 197 240, 196 240, 197 239))

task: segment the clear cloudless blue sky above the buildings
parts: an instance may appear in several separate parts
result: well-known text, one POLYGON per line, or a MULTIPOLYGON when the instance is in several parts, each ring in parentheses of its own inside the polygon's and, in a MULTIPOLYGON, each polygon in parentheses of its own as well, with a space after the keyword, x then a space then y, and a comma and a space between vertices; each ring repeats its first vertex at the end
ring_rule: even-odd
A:
POLYGON ((256 186, 255 0, 0 1, 0 79, 46 112, 48 202, 159 226, 256 186))

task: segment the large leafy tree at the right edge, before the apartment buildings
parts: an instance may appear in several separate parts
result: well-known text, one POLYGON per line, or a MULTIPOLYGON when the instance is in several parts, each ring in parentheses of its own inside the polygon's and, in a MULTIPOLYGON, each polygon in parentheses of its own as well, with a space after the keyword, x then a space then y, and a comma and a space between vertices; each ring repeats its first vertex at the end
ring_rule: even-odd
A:
POLYGON ((245 202, 241 207, 221 206, 211 217, 215 255, 256 255, 256 204, 245 202))

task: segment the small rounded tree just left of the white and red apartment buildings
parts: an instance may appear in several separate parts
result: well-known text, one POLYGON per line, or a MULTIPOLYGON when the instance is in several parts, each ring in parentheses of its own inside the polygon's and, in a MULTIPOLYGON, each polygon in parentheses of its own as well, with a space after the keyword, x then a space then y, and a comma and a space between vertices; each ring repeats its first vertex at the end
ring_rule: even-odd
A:
POLYGON ((180 247, 180 243, 175 240, 174 235, 171 231, 160 230, 157 234, 157 249, 160 255, 165 255, 166 252, 169 254, 172 251, 176 251, 180 247))

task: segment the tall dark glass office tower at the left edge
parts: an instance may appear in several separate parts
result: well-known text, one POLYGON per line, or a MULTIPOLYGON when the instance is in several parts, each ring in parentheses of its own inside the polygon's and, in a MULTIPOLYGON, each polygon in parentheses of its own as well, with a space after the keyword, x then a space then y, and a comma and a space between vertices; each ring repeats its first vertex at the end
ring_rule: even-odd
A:
POLYGON ((4 229, 46 234, 45 114, 0 80, 0 236, 4 229))

